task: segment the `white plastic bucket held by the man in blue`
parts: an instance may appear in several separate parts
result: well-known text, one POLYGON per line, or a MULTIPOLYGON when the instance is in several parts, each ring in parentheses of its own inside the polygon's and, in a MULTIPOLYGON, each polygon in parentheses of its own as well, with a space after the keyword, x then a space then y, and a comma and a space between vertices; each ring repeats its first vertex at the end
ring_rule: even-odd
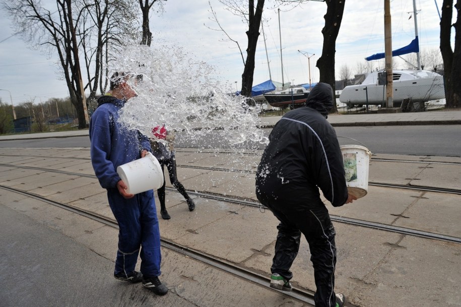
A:
POLYGON ((118 166, 117 173, 128 188, 128 194, 158 190, 163 186, 162 167, 150 152, 144 158, 118 166))

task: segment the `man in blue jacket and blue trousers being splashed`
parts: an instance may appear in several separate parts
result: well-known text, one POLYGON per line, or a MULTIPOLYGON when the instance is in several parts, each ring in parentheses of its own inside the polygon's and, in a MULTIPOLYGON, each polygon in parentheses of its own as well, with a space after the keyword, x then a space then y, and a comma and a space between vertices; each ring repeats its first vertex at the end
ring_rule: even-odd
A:
POLYGON ((136 92, 127 83, 129 75, 115 73, 110 91, 98 99, 91 116, 91 163, 101 187, 107 189, 110 209, 118 222, 118 251, 114 277, 143 285, 157 295, 168 288, 160 276, 160 231, 154 191, 127 194, 126 185, 116 169, 119 165, 140 159, 151 151, 149 139, 138 130, 128 130, 118 121, 119 111, 136 92), (138 255, 141 272, 135 271, 138 255))

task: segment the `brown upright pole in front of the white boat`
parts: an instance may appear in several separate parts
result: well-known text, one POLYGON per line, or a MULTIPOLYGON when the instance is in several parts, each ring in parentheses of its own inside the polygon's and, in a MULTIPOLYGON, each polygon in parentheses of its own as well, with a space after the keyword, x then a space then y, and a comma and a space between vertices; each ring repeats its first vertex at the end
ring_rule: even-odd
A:
POLYGON ((390 0, 384 0, 384 53, 386 67, 386 107, 392 108, 392 28, 390 0))

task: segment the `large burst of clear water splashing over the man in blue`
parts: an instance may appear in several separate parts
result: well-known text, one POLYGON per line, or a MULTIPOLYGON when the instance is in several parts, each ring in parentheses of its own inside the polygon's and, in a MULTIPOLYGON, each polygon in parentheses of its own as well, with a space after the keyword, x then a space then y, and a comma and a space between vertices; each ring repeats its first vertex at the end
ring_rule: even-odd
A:
POLYGON ((213 67, 178 46, 128 46, 111 71, 143 76, 142 81, 128 81, 138 94, 120 114, 120 121, 129 129, 138 129, 152 139, 152 128, 165 125, 197 142, 206 139, 210 130, 216 130, 218 138, 230 145, 268 142, 257 128, 260 106, 250 107, 245 97, 229 94, 233 93, 230 83, 213 78, 217 74, 213 67))

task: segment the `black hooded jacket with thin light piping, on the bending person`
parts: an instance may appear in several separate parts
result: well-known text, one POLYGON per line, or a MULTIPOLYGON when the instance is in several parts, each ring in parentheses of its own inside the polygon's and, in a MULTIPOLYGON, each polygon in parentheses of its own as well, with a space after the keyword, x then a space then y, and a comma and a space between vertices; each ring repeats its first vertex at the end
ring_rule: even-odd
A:
POLYGON ((275 125, 256 173, 256 196, 321 203, 318 188, 333 206, 347 201, 343 157, 336 132, 326 121, 333 107, 332 87, 318 83, 306 105, 275 125))

